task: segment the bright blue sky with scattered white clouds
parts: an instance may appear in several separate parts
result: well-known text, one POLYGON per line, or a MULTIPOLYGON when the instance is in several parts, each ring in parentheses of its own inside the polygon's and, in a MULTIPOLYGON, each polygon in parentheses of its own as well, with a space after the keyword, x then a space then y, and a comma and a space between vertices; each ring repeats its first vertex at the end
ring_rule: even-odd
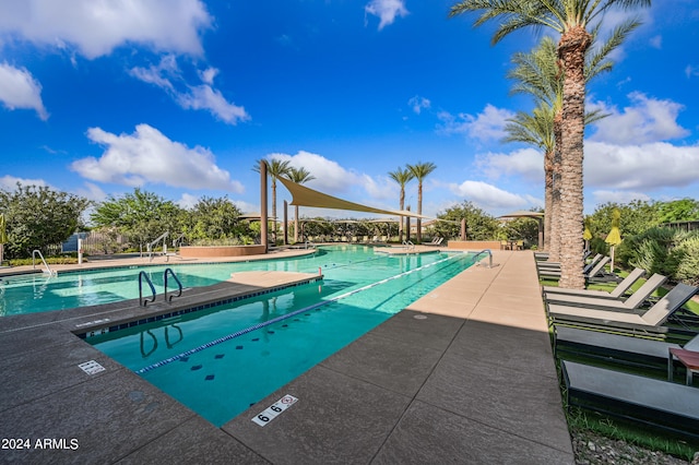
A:
MULTIPOLYGON (((0 0, 0 187, 96 201, 140 187, 257 212, 251 168, 282 157, 311 171, 312 189, 398 210, 388 172, 433 162, 424 214, 464 200, 491 215, 543 206, 542 154, 500 142, 532 106, 510 95, 510 57, 542 32, 491 46, 494 25, 448 19, 452 3, 0 0)), ((588 213, 699 199, 699 5, 636 14, 643 25, 588 92, 611 115, 588 129, 588 213)), ((291 201, 281 186, 277 199, 291 201)))

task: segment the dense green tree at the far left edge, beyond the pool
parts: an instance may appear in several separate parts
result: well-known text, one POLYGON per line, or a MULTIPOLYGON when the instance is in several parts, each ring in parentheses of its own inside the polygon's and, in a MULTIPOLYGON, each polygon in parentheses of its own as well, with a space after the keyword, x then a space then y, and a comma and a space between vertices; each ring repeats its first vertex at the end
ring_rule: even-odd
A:
POLYGON ((0 213, 5 216, 5 257, 32 257, 34 250, 47 254, 51 246, 66 241, 82 228, 82 215, 92 202, 80 195, 55 191, 46 186, 22 186, 0 190, 0 213))

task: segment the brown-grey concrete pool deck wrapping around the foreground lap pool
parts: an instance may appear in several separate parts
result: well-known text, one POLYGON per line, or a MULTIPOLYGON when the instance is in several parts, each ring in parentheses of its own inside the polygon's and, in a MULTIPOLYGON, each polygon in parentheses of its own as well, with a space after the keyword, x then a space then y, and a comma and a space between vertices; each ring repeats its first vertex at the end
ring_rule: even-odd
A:
POLYGON ((71 333, 94 315, 0 318, 0 431, 29 445, 0 462, 572 464, 533 254, 493 254, 222 428, 71 333))

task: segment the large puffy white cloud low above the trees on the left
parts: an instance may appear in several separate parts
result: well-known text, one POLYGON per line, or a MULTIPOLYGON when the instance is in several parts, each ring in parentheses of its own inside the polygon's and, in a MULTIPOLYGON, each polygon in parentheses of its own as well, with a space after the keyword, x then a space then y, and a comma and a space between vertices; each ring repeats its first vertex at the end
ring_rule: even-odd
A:
POLYGON ((133 134, 120 135, 91 128, 87 138, 106 150, 99 158, 82 158, 71 165, 84 178, 131 187, 153 182, 188 189, 244 190, 238 181, 230 180, 228 171, 216 166, 209 150, 170 141, 149 124, 137 126, 133 134))

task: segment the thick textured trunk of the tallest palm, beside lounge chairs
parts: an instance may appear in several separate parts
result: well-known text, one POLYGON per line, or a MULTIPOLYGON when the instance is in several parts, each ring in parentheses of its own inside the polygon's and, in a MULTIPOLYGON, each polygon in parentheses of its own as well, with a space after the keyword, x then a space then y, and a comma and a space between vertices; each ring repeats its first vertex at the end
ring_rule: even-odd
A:
POLYGON ((565 33, 558 45, 562 60, 564 118, 561 127, 560 164, 560 282, 559 286, 582 289, 583 192, 582 162, 584 157, 584 56, 590 34, 580 26, 565 33))

